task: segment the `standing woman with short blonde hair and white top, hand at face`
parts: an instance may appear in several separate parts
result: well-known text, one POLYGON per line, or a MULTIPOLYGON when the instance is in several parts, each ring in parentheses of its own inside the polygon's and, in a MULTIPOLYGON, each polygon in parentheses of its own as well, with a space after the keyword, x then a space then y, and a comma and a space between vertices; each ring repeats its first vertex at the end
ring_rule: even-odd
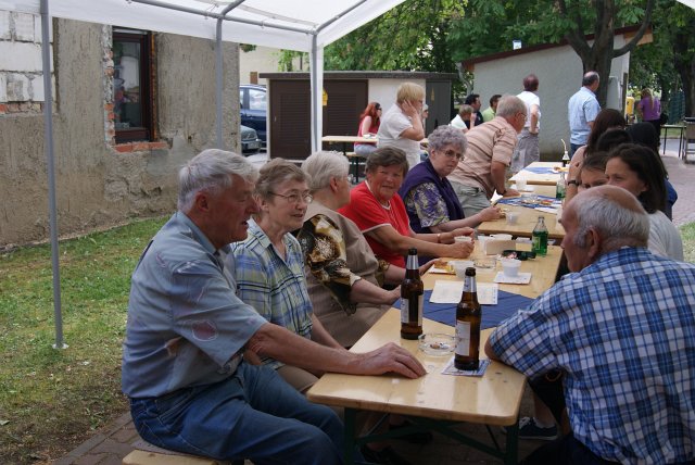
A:
POLYGON ((403 83, 396 101, 384 113, 379 126, 377 147, 395 147, 405 152, 408 169, 420 163, 420 140, 425 139, 422 105, 425 89, 415 83, 403 83))

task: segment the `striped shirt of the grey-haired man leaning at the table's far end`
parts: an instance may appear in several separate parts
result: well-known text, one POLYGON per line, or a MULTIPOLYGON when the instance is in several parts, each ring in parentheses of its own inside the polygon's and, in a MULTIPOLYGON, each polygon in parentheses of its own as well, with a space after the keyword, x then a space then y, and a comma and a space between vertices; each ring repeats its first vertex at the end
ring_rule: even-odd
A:
POLYGON ((491 174, 492 162, 509 166, 517 144, 517 130, 502 116, 495 116, 494 120, 470 129, 466 133, 466 138, 468 150, 447 178, 452 183, 481 188, 490 199, 495 191, 491 174))

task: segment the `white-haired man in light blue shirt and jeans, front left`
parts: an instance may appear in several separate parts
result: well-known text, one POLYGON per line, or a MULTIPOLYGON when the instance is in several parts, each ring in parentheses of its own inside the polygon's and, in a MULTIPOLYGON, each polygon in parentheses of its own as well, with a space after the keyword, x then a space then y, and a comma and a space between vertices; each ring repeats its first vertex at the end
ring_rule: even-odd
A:
POLYGON ((140 436, 169 450, 253 463, 340 464, 343 427, 250 350, 299 367, 350 374, 425 374, 395 344, 356 354, 268 323, 236 297, 224 266, 243 240, 257 172, 240 155, 205 150, 179 172, 178 212, 150 241, 130 289, 123 391, 140 436))

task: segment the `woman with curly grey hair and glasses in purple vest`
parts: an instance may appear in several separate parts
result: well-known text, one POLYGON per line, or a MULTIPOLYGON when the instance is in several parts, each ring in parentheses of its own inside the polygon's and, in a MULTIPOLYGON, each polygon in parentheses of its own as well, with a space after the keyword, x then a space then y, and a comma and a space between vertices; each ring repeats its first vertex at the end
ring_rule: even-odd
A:
POLYGON ((497 219, 500 209, 489 206, 465 217, 448 176, 466 152, 466 136, 453 126, 440 126, 429 138, 429 158, 405 176, 399 194, 405 203, 415 232, 441 234, 462 227, 476 227, 497 219))

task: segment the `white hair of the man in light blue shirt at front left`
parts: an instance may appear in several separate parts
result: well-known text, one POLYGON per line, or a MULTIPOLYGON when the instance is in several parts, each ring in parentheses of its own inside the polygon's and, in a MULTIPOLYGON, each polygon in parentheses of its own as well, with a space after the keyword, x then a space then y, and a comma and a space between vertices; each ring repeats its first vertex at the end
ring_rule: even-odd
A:
POLYGON ((258 171, 243 156, 218 149, 203 150, 178 172, 178 210, 190 211, 200 191, 217 193, 231 187, 231 175, 248 183, 258 179, 258 171))

